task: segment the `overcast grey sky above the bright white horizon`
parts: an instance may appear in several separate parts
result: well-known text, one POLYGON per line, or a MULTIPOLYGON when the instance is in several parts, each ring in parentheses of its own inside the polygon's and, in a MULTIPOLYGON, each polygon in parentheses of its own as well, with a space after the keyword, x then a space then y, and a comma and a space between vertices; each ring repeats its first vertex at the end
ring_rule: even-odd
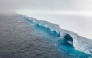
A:
POLYGON ((0 0, 0 12, 15 12, 18 9, 92 11, 91 0, 0 0))

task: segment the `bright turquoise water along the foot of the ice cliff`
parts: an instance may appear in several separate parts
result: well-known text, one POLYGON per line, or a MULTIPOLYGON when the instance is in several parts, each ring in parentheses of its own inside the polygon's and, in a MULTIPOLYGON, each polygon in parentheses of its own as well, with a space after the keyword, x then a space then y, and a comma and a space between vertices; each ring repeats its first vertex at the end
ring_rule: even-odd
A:
POLYGON ((56 31, 51 31, 49 28, 35 24, 30 20, 25 20, 28 24, 33 25, 33 27, 39 32, 40 35, 44 36, 49 42, 55 45, 57 49, 65 56, 69 56, 69 58, 89 58, 90 55, 75 50, 73 45, 60 38, 60 34, 56 31))

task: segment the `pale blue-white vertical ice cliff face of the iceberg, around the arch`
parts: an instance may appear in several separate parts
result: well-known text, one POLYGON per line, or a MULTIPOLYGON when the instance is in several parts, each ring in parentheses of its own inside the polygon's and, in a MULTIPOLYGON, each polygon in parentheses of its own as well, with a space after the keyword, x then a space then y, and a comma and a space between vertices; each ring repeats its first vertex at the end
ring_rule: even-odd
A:
POLYGON ((23 19, 26 19, 26 20, 34 23, 34 24, 38 24, 45 28, 49 28, 51 31, 56 31, 58 34, 60 34, 59 37, 61 39, 62 38, 64 39, 65 35, 69 34, 73 38, 73 47, 76 50, 79 50, 79 51, 87 53, 87 54, 92 53, 92 51, 91 51, 92 50, 92 40, 91 39, 87 39, 87 38, 77 35, 76 33, 71 32, 71 31, 61 29, 59 27, 59 25, 50 23, 48 21, 37 20, 36 18, 27 17, 24 15, 19 15, 19 16, 23 19))

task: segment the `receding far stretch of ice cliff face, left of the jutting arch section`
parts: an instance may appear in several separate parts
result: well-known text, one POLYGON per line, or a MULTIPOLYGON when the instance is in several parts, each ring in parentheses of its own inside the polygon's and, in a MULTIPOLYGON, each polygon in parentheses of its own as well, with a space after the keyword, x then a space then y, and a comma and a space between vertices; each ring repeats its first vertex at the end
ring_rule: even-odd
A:
POLYGON ((51 32, 56 32, 60 37, 60 27, 57 24, 49 23, 48 21, 36 20, 36 18, 22 16, 23 19, 32 22, 35 25, 50 29, 51 32))

